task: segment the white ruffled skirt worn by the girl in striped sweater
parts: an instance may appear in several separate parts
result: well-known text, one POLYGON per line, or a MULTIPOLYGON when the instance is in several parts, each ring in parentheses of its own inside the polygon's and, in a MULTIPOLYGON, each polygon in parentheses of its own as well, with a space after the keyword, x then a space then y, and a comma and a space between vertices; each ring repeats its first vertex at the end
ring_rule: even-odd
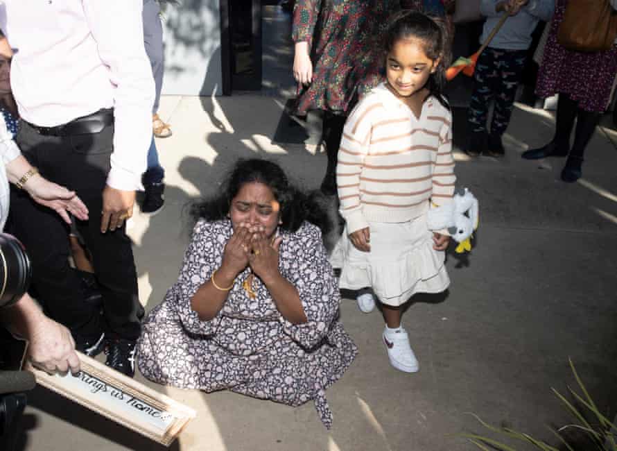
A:
POLYGON ((340 268, 345 289, 371 287, 381 303, 398 306, 415 293, 440 293, 449 287, 446 253, 433 249, 426 214, 404 223, 369 223, 370 252, 349 241, 347 229, 330 257, 340 268))

